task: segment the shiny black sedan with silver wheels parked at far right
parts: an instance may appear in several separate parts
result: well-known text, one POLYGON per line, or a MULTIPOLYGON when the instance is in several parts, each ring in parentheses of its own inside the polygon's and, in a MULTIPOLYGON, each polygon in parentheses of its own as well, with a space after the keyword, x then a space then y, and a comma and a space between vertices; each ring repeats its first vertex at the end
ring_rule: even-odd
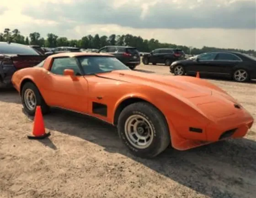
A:
POLYGON ((208 52, 171 64, 174 75, 219 76, 246 82, 256 78, 256 58, 240 52, 208 52))

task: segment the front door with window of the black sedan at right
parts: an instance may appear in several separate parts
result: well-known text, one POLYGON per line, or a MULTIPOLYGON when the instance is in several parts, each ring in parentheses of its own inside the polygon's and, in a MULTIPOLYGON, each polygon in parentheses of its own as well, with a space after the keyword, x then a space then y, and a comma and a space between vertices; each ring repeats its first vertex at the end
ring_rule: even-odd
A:
POLYGON ((187 64, 187 73, 200 72, 202 74, 208 73, 209 67, 214 65, 214 58, 217 53, 208 52, 198 55, 192 62, 187 64))

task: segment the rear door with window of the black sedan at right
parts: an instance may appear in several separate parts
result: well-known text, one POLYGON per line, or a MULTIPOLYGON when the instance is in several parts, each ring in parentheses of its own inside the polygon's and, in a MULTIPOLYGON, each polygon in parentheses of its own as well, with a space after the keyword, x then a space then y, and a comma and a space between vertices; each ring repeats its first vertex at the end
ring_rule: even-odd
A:
POLYGON ((220 52, 214 59, 214 66, 210 68, 210 72, 216 75, 230 75, 232 73, 232 69, 242 60, 240 57, 228 53, 228 52, 220 52))

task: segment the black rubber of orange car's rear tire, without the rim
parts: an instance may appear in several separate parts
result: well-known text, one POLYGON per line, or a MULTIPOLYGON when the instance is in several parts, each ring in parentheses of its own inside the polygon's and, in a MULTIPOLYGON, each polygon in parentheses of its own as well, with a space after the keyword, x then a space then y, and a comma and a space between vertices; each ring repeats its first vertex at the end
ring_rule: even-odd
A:
POLYGON ((36 113, 36 106, 34 109, 29 109, 25 103, 24 97, 25 97, 25 92, 27 89, 31 89, 32 92, 34 93, 35 98, 36 98, 36 106, 38 106, 38 105, 41 106, 42 114, 47 114, 49 112, 50 108, 45 103, 42 95, 40 94, 39 90, 37 89, 37 86, 31 82, 25 83, 21 90, 21 102, 22 102, 23 108, 27 112, 27 114, 35 115, 35 113, 36 113))

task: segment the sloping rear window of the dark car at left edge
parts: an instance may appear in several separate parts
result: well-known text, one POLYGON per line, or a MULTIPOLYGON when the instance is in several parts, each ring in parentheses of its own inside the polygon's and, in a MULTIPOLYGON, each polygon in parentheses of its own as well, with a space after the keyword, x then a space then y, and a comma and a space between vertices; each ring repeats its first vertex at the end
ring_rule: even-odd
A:
POLYGON ((32 47, 28 47, 26 45, 6 43, 4 45, 0 45, 0 53, 1 54, 22 54, 22 55, 41 55, 39 52, 34 50, 32 47))

